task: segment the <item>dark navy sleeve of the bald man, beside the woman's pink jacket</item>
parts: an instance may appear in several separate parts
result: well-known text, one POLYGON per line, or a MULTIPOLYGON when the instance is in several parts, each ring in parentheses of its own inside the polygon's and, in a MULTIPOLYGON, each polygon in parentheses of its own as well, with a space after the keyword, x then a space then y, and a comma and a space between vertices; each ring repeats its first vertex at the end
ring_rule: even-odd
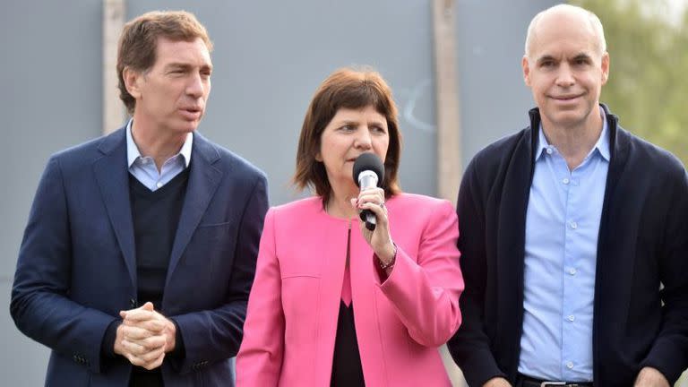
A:
POLYGON ((485 210, 478 181, 477 160, 469 164, 461 181, 456 211, 461 217, 459 248, 466 291, 460 298, 464 321, 447 343, 469 385, 480 386, 506 374, 497 366, 484 331, 487 281, 485 210))

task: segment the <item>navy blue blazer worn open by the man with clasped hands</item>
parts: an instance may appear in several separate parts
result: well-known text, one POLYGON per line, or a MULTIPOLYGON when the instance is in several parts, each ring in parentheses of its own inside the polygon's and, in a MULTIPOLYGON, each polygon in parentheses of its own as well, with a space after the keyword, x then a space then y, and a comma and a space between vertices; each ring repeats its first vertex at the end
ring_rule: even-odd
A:
MULTIPOLYGON (((161 313, 185 357, 167 387, 231 386, 268 208, 265 175, 193 134, 185 202, 161 313)), ((52 349, 46 385, 127 386, 132 366, 101 357, 107 326, 139 305, 125 129, 57 153, 39 183, 14 276, 17 327, 52 349)))

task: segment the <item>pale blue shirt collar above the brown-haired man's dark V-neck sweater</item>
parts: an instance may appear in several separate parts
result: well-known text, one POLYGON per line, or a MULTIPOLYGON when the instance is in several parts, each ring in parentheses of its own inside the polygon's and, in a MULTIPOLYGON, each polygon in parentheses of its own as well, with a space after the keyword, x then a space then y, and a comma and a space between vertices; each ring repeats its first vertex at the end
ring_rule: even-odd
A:
POLYGON ((129 120, 126 125, 126 160, 129 173, 136 177, 142 185, 147 186, 150 191, 155 191, 169 183, 175 176, 179 175, 191 162, 191 147, 193 145, 193 133, 186 134, 186 140, 179 153, 167 159, 158 171, 155 160, 151 157, 143 157, 133 142, 132 123, 129 120))

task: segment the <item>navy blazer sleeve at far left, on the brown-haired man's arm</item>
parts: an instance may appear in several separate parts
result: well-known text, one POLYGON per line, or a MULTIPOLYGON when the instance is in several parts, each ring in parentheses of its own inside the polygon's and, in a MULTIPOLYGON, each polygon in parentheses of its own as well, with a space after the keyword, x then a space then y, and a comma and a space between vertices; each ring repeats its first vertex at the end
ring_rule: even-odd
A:
POLYGON ((71 238, 64 178, 54 156, 40 179, 24 230, 10 314, 31 339, 99 373, 103 336, 116 317, 68 297, 71 238))

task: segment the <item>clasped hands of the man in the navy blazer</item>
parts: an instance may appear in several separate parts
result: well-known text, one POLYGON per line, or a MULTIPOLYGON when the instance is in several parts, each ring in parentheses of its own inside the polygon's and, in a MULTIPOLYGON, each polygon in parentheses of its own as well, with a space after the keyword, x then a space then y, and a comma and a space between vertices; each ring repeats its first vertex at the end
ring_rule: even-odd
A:
POLYGON ((139 308, 121 311, 115 353, 134 366, 154 369, 162 365, 165 354, 174 350, 176 326, 147 302, 139 308))

